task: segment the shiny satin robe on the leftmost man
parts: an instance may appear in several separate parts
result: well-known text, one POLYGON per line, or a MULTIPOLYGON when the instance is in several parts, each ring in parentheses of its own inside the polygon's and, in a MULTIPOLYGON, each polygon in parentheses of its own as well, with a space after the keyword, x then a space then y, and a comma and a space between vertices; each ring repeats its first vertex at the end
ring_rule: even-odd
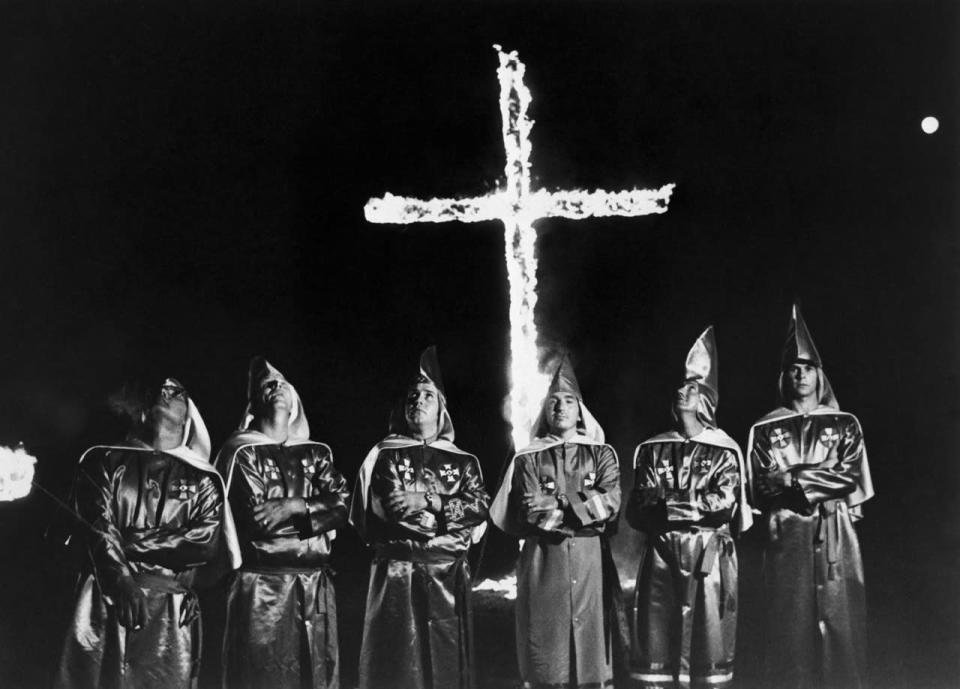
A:
POLYGON ((81 462, 76 496, 78 513, 100 537, 89 536, 55 686, 195 687, 200 609, 191 585, 195 569, 218 552, 219 478, 162 452, 96 448, 81 462), (113 596, 124 576, 146 594, 142 630, 118 621, 113 596))

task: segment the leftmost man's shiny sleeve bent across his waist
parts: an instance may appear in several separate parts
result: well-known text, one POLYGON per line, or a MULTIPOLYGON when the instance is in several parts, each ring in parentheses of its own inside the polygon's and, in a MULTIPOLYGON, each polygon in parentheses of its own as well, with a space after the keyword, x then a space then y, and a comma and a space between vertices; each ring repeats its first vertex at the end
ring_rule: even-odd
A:
POLYGON ((213 560, 223 519, 223 496, 218 482, 203 476, 192 503, 189 518, 183 524, 131 530, 124 545, 127 557, 177 571, 213 560))

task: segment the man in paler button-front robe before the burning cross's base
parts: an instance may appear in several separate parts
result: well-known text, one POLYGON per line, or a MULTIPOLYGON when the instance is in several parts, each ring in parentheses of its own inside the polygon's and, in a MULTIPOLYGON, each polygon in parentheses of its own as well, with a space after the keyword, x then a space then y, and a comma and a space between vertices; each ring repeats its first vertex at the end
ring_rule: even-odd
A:
POLYGON ((530 689, 608 686, 619 580, 603 538, 620 510, 620 466, 566 356, 534 429, 536 439, 513 457, 490 508, 497 527, 524 539, 520 680, 530 689))

